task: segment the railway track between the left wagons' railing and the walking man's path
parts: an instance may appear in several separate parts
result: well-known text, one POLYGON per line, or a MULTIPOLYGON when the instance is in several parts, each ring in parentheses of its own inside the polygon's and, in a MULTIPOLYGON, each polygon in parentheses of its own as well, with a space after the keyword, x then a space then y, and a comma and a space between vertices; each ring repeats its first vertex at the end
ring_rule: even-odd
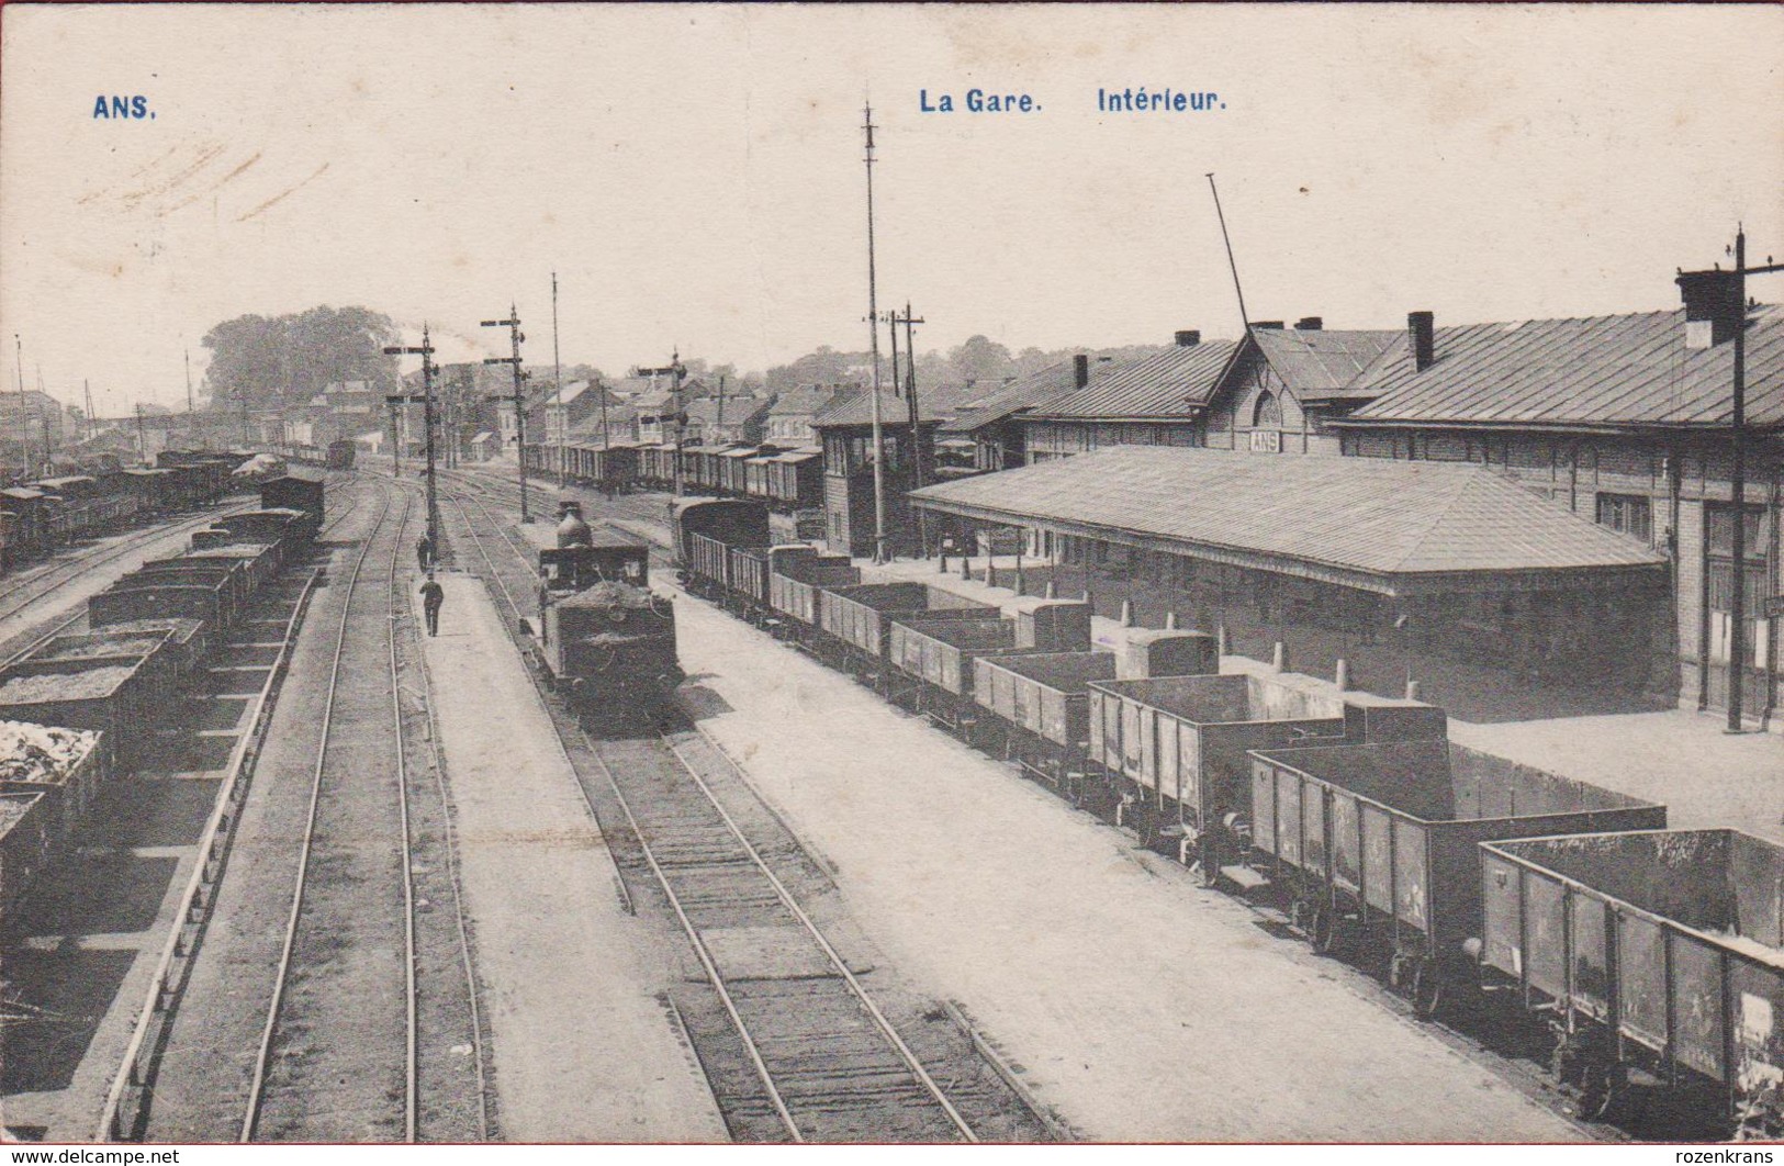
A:
POLYGON ((475 970, 439 758, 423 767, 409 743, 428 718, 416 695, 419 651, 400 571, 414 505, 410 490, 400 503, 385 494, 344 583, 241 1141, 489 1136, 475 970), (384 587, 366 585, 368 565, 384 587), (434 781, 421 768, 432 768, 434 781), (430 801, 426 790, 441 797, 430 801))

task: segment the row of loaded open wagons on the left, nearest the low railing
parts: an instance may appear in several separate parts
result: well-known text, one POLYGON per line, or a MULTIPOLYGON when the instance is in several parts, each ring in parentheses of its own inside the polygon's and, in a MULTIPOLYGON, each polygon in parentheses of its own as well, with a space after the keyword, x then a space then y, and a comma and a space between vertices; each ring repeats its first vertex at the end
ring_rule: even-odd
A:
POLYGON ((178 715, 169 694, 198 681, 250 603, 307 554, 323 510, 321 483, 268 483, 262 510, 218 519, 184 554, 89 597, 87 631, 0 667, 0 911, 73 861, 93 801, 178 715))

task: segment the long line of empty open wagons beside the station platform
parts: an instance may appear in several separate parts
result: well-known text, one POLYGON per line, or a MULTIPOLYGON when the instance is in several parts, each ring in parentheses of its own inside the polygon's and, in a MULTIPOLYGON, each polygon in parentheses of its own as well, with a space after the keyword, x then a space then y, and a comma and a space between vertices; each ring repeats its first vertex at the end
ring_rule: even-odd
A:
POLYGON ((1666 833, 1664 806, 1452 743, 1418 701, 1220 674, 1202 633, 1095 651, 1088 604, 862 583, 774 546, 758 503, 680 505, 674 547, 692 594, 1281 909, 1418 1014, 1529 1009, 1582 1114, 1639 1082, 1784 1134, 1784 849, 1666 833))

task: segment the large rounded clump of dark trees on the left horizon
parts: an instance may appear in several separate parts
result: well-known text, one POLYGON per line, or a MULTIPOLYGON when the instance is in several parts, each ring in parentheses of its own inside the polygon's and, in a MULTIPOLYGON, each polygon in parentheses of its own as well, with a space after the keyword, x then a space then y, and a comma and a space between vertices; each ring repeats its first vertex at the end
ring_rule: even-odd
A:
POLYGON ((389 316, 362 307, 314 307, 289 316, 237 316, 205 333, 212 408, 301 405, 332 382, 364 380, 378 392, 398 387, 398 339, 389 316))

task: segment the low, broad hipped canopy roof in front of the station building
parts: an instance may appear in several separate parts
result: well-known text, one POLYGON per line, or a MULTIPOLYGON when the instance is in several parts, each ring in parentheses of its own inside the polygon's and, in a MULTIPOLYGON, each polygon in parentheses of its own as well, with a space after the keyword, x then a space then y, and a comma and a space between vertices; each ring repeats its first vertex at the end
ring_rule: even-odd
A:
POLYGON ((1664 581, 1654 549, 1483 465, 1120 446, 924 487, 913 505, 1418 595, 1664 581))

